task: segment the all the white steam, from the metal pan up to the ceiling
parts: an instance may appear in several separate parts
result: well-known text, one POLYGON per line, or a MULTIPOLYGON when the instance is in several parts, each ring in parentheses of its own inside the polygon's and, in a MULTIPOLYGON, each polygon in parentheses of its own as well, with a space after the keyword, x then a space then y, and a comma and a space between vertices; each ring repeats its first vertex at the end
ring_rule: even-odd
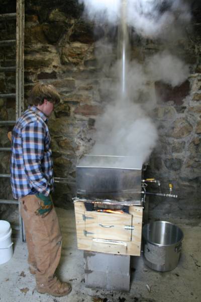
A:
MULTIPOLYGON (((122 0, 79 1, 84 3, 90 19, 104 18, 112 24, 118 23, 122 0)), ((127 0, 127 8, 128 25, 144 37, 166 39, 165 34, 173 37, 170 35, 173 27, 174 36, 177 36, 182 26, 190 20, 189 8, 184 0, 127 0)), ((96 55, 99 59, 103 59, 106 49, 111 50, 111 45, 103 41, 98 43, 96 55)), ((120 65, 121 62, 117 61, 112 68, 113 74, 120 73, 120 65)), ((121 99, 119 82, 113 85, 107 83, 102 87, 107 90, 110 85, 109 99, 113 101, 107 104, 105 113, 96 119, 95 144, 91 154, 133 157, 133 162, 129 159, 131 167, 142 165, 158 137, 156 126, 147 114, 156 102, 148 83, 162 81, 175 87, 187 78, 188 72, 188 66, 167 51, 149 57, 144 64, 129 62, 127 97, 124 101, 121 99)))

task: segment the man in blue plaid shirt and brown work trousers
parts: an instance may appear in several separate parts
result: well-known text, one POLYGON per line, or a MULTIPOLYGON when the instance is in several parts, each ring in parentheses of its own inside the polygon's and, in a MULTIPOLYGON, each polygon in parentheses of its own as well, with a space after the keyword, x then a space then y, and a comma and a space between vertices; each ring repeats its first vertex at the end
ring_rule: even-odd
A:
POLYGON ((33 87, 29 109, 12 132, 11 159, 11 185, 14 197, 21 202, 29 269, 36 274, 37 291, 53 296, 71 291, 70 284, 54 275, 61 256, 61 232, 50 197, 54 178, 47 121, 59 101, 52 85, 33 87))

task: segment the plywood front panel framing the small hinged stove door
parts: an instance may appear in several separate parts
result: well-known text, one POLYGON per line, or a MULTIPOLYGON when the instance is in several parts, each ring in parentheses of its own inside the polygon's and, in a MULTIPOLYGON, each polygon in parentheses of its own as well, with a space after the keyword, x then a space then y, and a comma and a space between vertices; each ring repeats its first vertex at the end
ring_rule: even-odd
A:
MULTIPOLYGON (((129 236, 129 240, 122 240, 125 245, 115 245, 110 243, 101 243, 101 242, 93 242, 93 239, 97 237, 88 237, 86 235, 86 224, 83 219, 84 215, 93 215, 93 211, 86 211, 84 203, 81 201, 76 201, 74 203, 75 207, 75 220, 76 220, 76 230, 77 230, 77 247, 81 250, 86 251, 94 251, 94 252, 103 252, 103 253, 112 253, 112 254, 121 254, 121 255, 132 255, 132 256, 140 256, 141 254, 141 236, 142 236, 142 214, 143 214, 143 208, 142 206, 130 206, 129 207, 129 214, 122 214, 122 215, 128 215, 129 222, 130 223, 130 217, 132 217, 132 226, 134 227, 134 230, 131 232, 131 237, 129 236), (87 212, 87 213, 86 213, 87 212)), ((103 213, 99 213, 103 214, 103 213)), ((104 213, 106 215, 111 215, 110 213, 104 213)), ((96 215, 96 214, 95 214, 96 215)), ((115 214, 115 215, 121 215, 121 214, 115 214)), ((108 216, 111 217, 111 216, 108 216)), ((119 216, 118 216, 119 217, 119 216)), ((90 219, 89 219, 90 220, 90 219)), ((89 221, 88 220, 88 221, 89 221)), ((93 220, 93 219, 91 219, 93 220)), ((91 223, 91 222, 90 222, 91 223)), ((87 224, 90 226, 90 223, 87 224)), ((108 223, 108 220, 107 220, 108 223)), ((110 221, 111 225, 113 225, 113 222, 110 221)), ((108 224, 109 225, 109 224, 108 224)), ((89 232, 89 229, 87 229, 89 232)), ((92 229, 90 229, 92 233, 92 229)), ((121 235, 119 237, 119 241, 121 238, 121 235)), ((107 239, 107 238, 105 238, 107 239)), ((115 238, 113 238, 115 240, 115 238)), ((118 242, 118 240, 117 240, 118 242)))

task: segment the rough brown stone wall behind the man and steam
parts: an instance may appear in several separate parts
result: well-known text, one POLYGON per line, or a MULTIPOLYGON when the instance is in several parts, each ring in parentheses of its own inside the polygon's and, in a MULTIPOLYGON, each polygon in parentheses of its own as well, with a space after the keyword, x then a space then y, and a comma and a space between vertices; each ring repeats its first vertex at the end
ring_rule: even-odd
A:
MULTIPOLYGON (((198 2, 197 2, 198 4, 198 2)), ((156 123, 159 139, 150 156, 147 177, 161 180, 162 191, 168 192, 173 184, 177 200, 151 198, 151 217, 195 217, 200 215, 198 198, 201 151, 201 63, 200 25, 201 10, 193 8, 193 31, 185 39, 176 41, 176 55, 189 64, 190 75, 179 87, 152 83, 157 99, 149 112, 156 123)), ((117 58, 116 28, 94 24, 82 19, 82 6, 76 0, 65 2, 47 0, 26 1, 25 18, 25 107, 32 86, 37 83, 53 84, 61 94, 61 104, 49 120, 52 137, 54 171, 56 177, 67 178, 67 184, 56 184, 56 205, 65 207, 75 196, 75 166, 87 154, 94 141, 96 117, 102 114, 110 82, 115 81, 110 69, 117 58), (113 42, 112 52, 96 58, 97 41, 108 37, 113 42), (108 64, 110 62, 110 65, 108 64), (102 89, 107 82, 108 90, 102 89)), ((12 37, 15 24, 1 26, 1 40, 12 37)), ((133 35, 132 59, 143 63, 147 56, 163 48, 172 49, 172 43, 142 39, 133 35)), ((11 65, 15 58, 13 48, 3 48, 0 62, 11 65)), ((15 91, 15 73, 0 75, 0 91, 15 91), (7 78, 6 78, 7 76, 7 78)), ((15 119, 15 100, 0 100, 2 120, 15 119)), ((0 127, 0 144, 9 146, 9 127, 0 127)), ((1 153, 1 173, 9 173, 8 153, 1 153)), ((9 180, 1 181, 1 198, 11 198, 9 180), (6 190, 5 190, 6 188, 6 190), (5 194, 6 193, 6 194, 5 194), (5 196, 6 195, 6 196, 5 196)), ((152 189, 155 189, 154 187, 152 189)))

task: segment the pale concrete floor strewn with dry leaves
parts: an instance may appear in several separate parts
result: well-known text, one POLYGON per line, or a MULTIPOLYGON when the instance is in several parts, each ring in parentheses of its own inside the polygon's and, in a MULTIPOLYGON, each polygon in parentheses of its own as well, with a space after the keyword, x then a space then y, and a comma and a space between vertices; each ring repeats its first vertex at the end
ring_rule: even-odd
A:
POLYGON ((0 265, 1 302, 200 302, 201 301, 201 222, 177 220, 184 233, 182 254, 178 266, 171 272, 156 272, 147 268, 143 257, 133 257, 130 292, 90 289, 84 286, 83 251, 76 248, 73 208, 57 208, 63 234, 63 249, 57 275, 70 280, 72 292, 64 297, 39 294, 35 278, 29 273, 27 246, 14 239, 14 255, 0 265), (148 286, 147 286, 148 285, 148 286), (148 289, 150 288, 150 290, 148 289))

